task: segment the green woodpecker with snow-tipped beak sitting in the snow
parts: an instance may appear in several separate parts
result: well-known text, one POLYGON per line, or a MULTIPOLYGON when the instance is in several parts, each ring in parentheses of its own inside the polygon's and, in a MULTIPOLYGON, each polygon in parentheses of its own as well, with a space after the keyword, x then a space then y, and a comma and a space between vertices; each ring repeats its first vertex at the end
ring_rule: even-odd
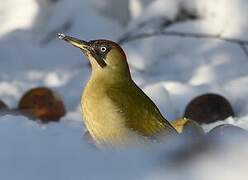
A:
POLYGON ((91 64, 81 110, 98 147, 160 142, 178 134, 133 81, 126 54, 118 43, 105 39, 85 41, 63 33, 58 36, 79 48, 91 64))

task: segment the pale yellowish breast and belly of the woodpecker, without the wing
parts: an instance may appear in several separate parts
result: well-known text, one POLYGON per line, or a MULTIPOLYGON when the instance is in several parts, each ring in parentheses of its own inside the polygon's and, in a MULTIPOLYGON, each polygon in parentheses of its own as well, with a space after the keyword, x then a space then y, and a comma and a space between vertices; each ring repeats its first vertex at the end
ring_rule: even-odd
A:
POLYGON ((99 144, 124 145, 138 136, 125 126, 125 115, 104 92, 86 88, 82 99, 85 125, 93 139, 99 144))

